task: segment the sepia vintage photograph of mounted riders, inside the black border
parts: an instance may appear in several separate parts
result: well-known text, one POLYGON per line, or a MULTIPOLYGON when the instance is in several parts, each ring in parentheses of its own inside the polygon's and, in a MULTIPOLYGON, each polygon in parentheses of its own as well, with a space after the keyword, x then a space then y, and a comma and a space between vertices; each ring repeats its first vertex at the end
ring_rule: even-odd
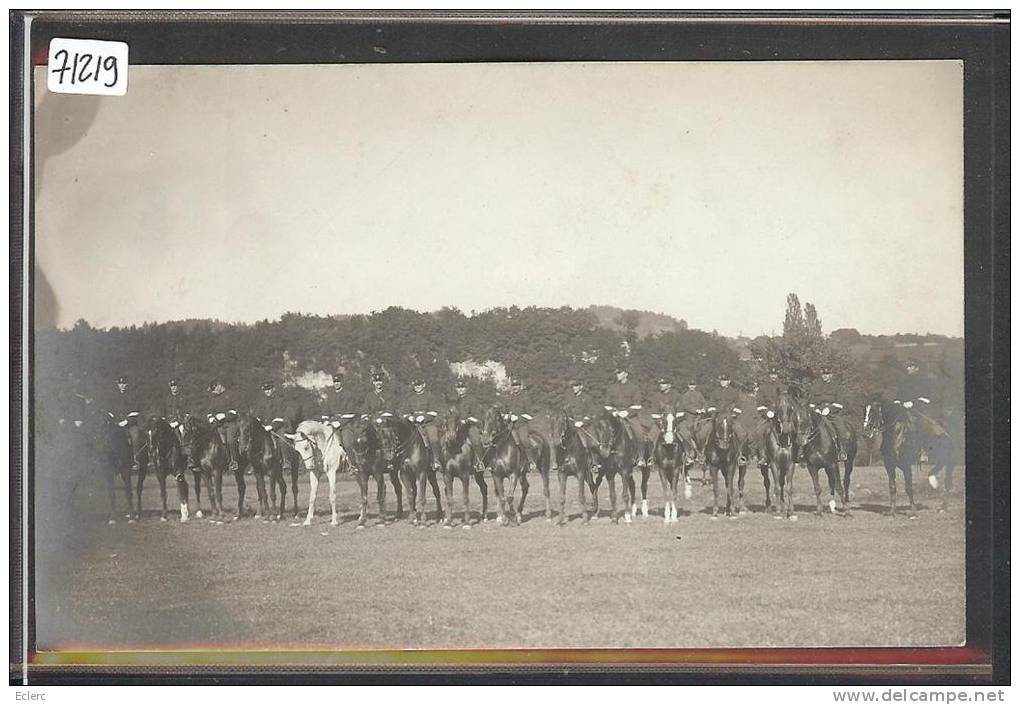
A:
POLYGON ((34 79, 43 657, 966 641, 962 61, 34 79))

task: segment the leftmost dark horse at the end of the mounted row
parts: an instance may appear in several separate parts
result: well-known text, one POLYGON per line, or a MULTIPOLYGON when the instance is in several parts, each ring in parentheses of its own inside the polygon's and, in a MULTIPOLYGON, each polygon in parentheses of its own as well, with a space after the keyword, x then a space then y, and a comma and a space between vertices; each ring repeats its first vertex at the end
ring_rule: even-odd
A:
POLYGON ((75 459, 84 460, 86 472, 79 474, 71 488, 71 496, 78 492, 79 485, 86 475, 92 475, 96 471, 102 473, 106 481, 106 489, 110 498, 110 515, 108 523, 116 523, 117 500, 114 481, 116 475, 124 485, 124 495, 128 498, 128 521, 133 523, 142 511, 142 500, 139 497, 139 507, 136 511, 131 489, 131 466, 134 460, 132 456, 131 440, 123 429, 114 422, 113 417, 108 414, 89 416, 84 419, 81 427, 68 424, 67 440, 69 444, 67 450, 72 454, 80 451, 82 455, 76 458, 72 455, 67 462, 75 459))

